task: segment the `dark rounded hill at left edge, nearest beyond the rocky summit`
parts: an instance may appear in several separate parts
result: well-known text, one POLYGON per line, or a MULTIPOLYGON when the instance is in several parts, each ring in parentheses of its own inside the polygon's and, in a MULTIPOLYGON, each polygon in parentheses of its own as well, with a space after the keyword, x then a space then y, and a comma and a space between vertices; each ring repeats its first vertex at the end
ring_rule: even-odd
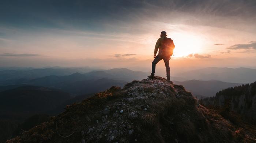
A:
POLYGON ((0 119, 23 120, 42 114, 71 99, 67 92, 47 87, 23 86, 0 92, 0 119))

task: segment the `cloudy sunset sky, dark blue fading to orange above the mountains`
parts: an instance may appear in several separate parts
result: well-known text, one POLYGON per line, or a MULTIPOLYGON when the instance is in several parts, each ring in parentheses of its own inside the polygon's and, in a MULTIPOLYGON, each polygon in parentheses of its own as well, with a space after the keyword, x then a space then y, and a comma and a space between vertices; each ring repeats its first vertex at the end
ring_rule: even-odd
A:
POLYGON ((0 66, 148 68, 166 31, 171 67, 256 67, 255 13, 255 0, 1 0, 0 66))

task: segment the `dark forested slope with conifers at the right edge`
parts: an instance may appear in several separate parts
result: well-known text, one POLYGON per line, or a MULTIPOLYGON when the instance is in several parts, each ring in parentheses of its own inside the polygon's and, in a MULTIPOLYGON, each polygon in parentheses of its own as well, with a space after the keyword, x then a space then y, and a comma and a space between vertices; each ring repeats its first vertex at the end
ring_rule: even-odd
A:
POLYGON ((256 82, 224 89, 215 97, 203 99, 201 102, 207 107, 221 108, 225 114, 233 111, 256 124, 256 82))

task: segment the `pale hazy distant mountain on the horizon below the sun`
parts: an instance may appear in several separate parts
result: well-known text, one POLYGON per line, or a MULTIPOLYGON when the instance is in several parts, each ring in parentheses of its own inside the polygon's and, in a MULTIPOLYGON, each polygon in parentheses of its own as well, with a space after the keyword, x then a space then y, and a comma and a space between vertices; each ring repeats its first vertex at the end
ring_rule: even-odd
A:
POLYGON ((256 69, 209 67, 191 70, 175 76, 188 80, 221 80, 230 83, 252 83, 256 80, 256 69))

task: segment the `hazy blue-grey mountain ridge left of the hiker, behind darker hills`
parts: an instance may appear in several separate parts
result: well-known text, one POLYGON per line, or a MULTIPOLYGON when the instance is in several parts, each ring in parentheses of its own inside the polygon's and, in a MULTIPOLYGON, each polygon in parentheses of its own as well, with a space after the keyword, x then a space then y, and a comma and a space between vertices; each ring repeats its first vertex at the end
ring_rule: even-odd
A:
MULTIPOLYGON (((86 74, 78 72, 67 76, 45 76, 35 79, 16 79, 0 81, 1 89, 11 88, 11 85, 22 84, 57 88, 71 94, 82 95, 104 91, 111 86, 124 86, 132 80, 147 78, 145 72, 135 72, 126 68, 92 71, 86 74), (10 85, 10 86, 6 86, 10 85)), ((15 87, 14 86, 14 87, 15 87)))

